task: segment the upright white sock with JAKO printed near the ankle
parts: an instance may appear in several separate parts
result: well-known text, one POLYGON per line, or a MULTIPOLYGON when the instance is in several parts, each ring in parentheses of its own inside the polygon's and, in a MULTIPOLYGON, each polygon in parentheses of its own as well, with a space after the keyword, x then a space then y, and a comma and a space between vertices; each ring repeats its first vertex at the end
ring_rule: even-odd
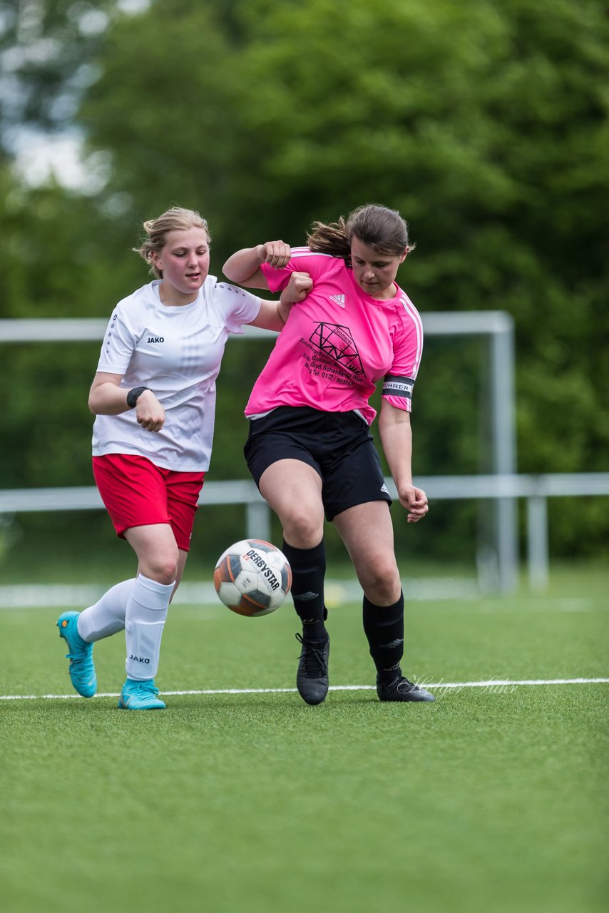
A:
POLYGON ((138 574, 125 613, 127 677, 153 678, 159 667, 161 637, 175 583, 157 583, 138 574))

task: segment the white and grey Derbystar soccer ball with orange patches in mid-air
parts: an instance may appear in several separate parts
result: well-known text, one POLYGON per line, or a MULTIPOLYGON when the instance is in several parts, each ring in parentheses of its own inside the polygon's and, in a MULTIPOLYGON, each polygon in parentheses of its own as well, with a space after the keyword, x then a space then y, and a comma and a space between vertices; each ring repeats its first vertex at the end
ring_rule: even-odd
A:
POLYGON ((220 600, 232 612, 250 618, 275 612, 291 585, 288 559, 261 539, 235 542, 215 565, 214 586, 220 600))

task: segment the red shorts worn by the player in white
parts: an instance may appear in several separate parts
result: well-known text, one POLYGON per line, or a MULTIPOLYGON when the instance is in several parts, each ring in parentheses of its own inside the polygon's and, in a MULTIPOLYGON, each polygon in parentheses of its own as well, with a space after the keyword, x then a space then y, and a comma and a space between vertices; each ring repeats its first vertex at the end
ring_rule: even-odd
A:
POLYGON ((145 456, 93 456, 93 476, 114 529, 169 523, 178 549, 189 551, 205 472, 162 469, 145 456))

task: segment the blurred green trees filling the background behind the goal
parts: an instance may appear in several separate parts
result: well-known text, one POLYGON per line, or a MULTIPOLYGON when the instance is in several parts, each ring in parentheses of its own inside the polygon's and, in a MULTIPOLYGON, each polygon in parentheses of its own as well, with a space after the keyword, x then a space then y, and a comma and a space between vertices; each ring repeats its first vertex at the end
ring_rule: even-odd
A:
MULTIPOLYGON (((74 19, 77 5, 52 6, 74 19)), ((173 203, 209 218, 217 274, 237 247, 301 243, 313 219, 382 202, 404 213, 417 242, 399 279, 419 310, 514 317, 520 471, 606 468, 604 3, 286 0, 270 10, 262 0, 178 0, 135 16, 110 6, 89 47, 88 79, 99 79, 83 85, 77 119, 89 151, 110 156, 109 181, 85 204, 48 188, 0 215, 18 247, 40 241, 43 201, 68 201, 36 279, 26 258, 6 253, 7 314, 34 300, 48 313, 108 314, 146 280, 129 253, 138 226, 173 203)), ((57 209, 48 226, 54 218, 57 209)), ((218 385, 215 477, 245 471, 239 416, 268 346, 252 344, 247 358, 241 346, 229 344, 218 385)), ((419 474, 486 468, 483 362, 474 343, 428 345, 419 474)), ((15 472, 11 484, 23 484, 25 469, 15 472)), ((552 547, 606 549, 604 514, 564 505, 552 547)), ((446 511, 434 547, 458 549, 461 523, 446 511)))

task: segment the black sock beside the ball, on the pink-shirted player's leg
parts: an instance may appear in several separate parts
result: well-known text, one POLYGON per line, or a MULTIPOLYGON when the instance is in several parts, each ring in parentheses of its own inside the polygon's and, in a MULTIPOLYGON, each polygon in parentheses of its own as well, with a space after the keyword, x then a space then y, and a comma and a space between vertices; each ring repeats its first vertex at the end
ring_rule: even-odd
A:
POLYGON ((324 621, 328 617, 323 603, 323 580, 326 575, 326 547, 321 540, 312 549, 295 549, 284 539, 281 551, 292 569, 292 599, 302 622, 302 635, 309 640, 325 640, 324 621))

